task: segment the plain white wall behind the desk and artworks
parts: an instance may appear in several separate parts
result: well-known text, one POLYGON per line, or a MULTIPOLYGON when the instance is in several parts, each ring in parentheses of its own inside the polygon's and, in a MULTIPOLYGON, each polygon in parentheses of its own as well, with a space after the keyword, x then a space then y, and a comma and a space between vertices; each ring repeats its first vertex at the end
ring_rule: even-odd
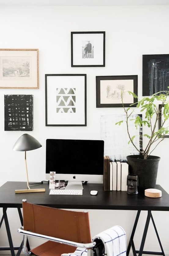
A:
MULTIPOLYGON (((100 139, 100 115, 123 113, 122 108, 96 108, 95 76, 138 75, 138 95, 142 96, 142 54, 168 53, 168 13, 169 6, 0 6, 0 48, 39 49, 39 89, 0 89, 0 185, 6 181, 26 180, 24 155, 12 151, 23 132, 4 131, 4 94, 34 95, 34 131, 28 133, 42 143, 42 148, 27 154, 29 180, 44 180, 47 138, 100 139), (71 31, 106 31, 104 68, 71 68, 71 31), (45 126, 45 74, 50 73, 87 74, 87 127, 45 126)), ((157 183, 167 192, 168 142, 166 138, 154 152, 161 157, 157 183)), ((16 231, 20 226, 17 211, 8 209, 8 213, 17 246, 21 240, 16 231)), ((168 213, 153 214, 163 249, 169 255, 168 213)), ((90 210, 91 234, 119 224, 126 230, 128 242, 135 215, 135 211, 90 210)), ((146 212, 143 212, 135 238, 136 247, 139 247, 145 217, 146 212)), ((0 230, 0 246, 8 246, 4 225, 0 230)), ((151 225, 144 249, 160 251, 151 225)))

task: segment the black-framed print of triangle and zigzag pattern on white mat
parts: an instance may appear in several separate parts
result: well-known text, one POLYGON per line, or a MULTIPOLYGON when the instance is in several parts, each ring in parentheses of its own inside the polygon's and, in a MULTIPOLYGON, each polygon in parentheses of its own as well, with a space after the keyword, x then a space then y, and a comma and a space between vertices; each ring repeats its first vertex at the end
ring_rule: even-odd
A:
POLYGON ((86 74, 46 74, 46 126, 86 126, 86 74))

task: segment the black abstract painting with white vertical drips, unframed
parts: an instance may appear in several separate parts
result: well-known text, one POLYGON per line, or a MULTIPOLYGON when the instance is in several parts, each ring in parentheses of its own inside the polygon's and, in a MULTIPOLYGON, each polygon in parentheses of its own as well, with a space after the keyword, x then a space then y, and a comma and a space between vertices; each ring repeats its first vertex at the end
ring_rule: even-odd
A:
POLYGON ((168 91, 169 54, 143 55, 143 96, 168 91))

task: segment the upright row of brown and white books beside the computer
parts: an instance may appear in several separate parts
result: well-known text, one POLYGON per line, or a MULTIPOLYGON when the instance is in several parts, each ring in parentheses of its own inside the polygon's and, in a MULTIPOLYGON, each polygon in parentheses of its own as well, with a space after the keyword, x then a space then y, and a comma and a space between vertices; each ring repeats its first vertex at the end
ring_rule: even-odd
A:
POLYGON ((128 163, 112 162, 104 156, 103 187, 105 191, 127 191, 128 163))

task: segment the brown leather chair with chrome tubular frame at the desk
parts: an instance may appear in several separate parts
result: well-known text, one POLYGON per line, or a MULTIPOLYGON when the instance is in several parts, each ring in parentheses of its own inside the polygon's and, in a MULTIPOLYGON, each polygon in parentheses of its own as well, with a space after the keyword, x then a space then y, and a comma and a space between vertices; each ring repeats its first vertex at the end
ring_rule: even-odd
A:
POLYGON ((73 253, 75 247, 86 248, 87 255, 94 254, 96 242, 91 242, 88 211, 61 210, 22 201, 24 226, 18 232, 24 235, 24 254, 61 256, 73 253), (28 236, 47 242, 28 251, 28 236))

